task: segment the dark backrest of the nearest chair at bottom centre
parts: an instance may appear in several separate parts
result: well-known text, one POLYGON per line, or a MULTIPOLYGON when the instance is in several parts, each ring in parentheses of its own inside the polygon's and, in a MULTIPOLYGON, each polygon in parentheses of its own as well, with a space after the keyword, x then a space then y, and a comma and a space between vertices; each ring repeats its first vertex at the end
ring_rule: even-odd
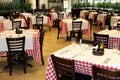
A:
POLYGON ((57 80, 60 80, 61 76, 70 77, 71 80, 75 80, 75 67, 73 60, 67 60, 51 55, 54 64, 57 80))

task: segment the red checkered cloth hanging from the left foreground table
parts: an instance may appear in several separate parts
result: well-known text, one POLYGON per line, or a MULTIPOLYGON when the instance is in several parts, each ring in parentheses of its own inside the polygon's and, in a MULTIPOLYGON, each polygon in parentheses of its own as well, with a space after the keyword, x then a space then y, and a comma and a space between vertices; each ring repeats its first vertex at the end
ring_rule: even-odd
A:
MULTIPOLYGON (((33 58, 39 62, 41 62, 41 51, 40 51, 40 43, 39 43, 39 36, 40 36, 40 32, 39 30, 34 30, 35 32, 37 32, 38 34, 34 34, 33 35, 33 49, 32 50, 26 50, 26 52, 28 53, 28 55, 33 56, 33 58)), ((28 43, 29 44, 29 43, 28 43)), ((6 52, 0 52, 0 56, 2 56, 4 53, 6 52)))

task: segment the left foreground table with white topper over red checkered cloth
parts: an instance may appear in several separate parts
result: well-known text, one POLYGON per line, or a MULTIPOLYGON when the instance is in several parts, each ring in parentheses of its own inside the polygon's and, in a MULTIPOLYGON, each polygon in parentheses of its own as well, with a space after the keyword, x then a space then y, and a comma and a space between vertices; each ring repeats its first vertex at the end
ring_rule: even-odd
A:
POLYGON ((16 34, 15 30, 4 30, 0 32, 0 56, 8 51, 6 38, 17 38, 25 36, 25 51, 28 55, 32 56, 35 61, 42 64, 41 62, 41 51, 40 51, 40 32, 37 29, 22 30, 22 34, 16 34))

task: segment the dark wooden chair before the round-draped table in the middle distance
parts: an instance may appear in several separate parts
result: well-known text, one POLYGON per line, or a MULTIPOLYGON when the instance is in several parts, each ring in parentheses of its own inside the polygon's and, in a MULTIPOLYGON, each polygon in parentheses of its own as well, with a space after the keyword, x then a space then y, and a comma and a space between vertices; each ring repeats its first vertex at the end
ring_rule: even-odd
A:
POLYGON ((82 31, 81 31, 82 21, 72 21, 72 31, 70 36, 75 37, 77 34, 77 40, 82 39, 82 31))

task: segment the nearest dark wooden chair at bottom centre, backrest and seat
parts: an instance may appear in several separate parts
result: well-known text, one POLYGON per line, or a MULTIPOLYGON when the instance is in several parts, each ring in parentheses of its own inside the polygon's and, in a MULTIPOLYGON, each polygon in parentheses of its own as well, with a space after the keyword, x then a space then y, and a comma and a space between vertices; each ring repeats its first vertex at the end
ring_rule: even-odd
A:
POLYGON ((91 80, 91 77, 75 72, 73 60, 67 60, 51 55, 57 80, 91 80))

